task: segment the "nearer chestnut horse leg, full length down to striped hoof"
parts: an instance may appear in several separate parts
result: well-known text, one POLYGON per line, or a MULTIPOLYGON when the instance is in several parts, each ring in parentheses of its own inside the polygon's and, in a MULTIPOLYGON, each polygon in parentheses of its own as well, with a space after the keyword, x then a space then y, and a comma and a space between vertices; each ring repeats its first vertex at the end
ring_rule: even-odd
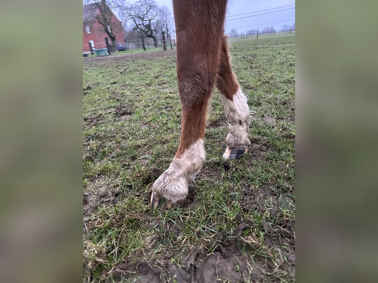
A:
POLYGON ((185 199, 187 179, 194 178, 205 161, 206 114, 217 79, 227 1, 200 4, 199 9, 197 1, 173 0, 182 106, 181 140, 169 168, 152 185, 152 206, 158 206, 161 198, 170 203, 185 199))

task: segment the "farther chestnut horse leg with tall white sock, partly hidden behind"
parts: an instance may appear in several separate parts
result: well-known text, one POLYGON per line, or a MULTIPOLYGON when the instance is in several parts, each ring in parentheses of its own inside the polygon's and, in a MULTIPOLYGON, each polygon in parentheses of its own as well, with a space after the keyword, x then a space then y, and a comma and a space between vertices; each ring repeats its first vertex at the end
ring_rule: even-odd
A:
POLYGON ((250 113, 247 98, 232 72, 226 37, 222 39, 217 88, 225 107, 228 122, 228 135, 223 158, 235 159, 244 154, 251 145, 247 133, 250 113))

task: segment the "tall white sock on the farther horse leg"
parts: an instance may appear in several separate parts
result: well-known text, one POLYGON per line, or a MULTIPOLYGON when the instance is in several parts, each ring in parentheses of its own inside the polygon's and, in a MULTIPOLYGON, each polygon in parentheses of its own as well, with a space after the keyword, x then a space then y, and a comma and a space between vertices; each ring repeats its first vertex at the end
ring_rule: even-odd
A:
MULTIPOLYGON (((228 135, 226 138, 227 147, 246 147, 251 144, 248 138, 248 126, 251 119, 247 98, 240 88, 233 95, 233 101, 220 94, 223 106, 225 107, 228 121, 228 135)), ((225 152, 226 154, 226 152, 225 152)), ((224 158, 227 158, 227 156, 224 158)))

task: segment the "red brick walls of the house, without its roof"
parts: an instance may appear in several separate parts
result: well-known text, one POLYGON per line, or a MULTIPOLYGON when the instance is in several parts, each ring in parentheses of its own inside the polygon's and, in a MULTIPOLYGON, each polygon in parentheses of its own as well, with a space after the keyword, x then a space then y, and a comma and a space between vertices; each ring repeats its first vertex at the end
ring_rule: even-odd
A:
MULTIPOLYGON (((113 33, 115 34, 115 39, 117 40, 117 42, 124 44, 125 37, 123 35, 122 25, 121 22, 115 17, 115 15, 113 15, 112 23, 113 24, 111 28, 113 30, 113 33)), ((89 40, 94 41, 96 49, 106 48, 105 37, 108 37, 109 43, 111 43, 110 37, 104 31, 103 26, 101 26, 99 23, 90 23, 87 25, 83 24, 83 52, 90 51, 89 40), (89 26, 91 32, 89 35, 86 32, 86 26, 89 26)))

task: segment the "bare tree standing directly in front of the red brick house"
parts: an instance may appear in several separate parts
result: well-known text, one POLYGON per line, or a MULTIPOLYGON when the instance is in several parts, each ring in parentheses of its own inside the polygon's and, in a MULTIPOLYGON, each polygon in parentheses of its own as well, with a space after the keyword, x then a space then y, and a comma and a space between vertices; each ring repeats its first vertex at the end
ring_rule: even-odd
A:
POLYGON ((93 20, 93 22, 97 22, 102 26, 104 32, 112 41, 112 49, 114 50, 117 43, 115 34, 118 31, 113 30, 115 22, 112 8, 115 8, 115 5, 112 0, 83 0, 83 4, 91 4, 88 8, 92 9, 93 13, 89 18, 93 20), (99 13, 97 11, 99 11, 99 13))

